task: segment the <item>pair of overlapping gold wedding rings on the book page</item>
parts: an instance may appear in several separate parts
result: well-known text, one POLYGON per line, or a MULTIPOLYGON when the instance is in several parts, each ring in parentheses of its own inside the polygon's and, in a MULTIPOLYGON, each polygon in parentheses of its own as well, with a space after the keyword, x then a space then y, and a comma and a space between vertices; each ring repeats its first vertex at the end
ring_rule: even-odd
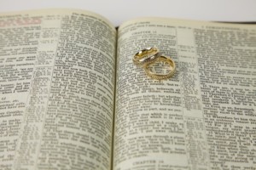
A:
POLYGON ((170 77, 172 77, 175 73, 175 63, 172 59, 169 57, 166 57, 159 53, 158 48, 145 48, 137 54, 135 54, 132 58, 132 61, 135 65, 138 65, 140 67, 143 67, 146 75, 150 78, 156 79, 156 80, 165 80, 170 77), (168 71, 166 74, 157 74, 152 71, 150 71, 149 66, 153 65, 156 62, 166 62, 170 65, 171 71, 168 71))

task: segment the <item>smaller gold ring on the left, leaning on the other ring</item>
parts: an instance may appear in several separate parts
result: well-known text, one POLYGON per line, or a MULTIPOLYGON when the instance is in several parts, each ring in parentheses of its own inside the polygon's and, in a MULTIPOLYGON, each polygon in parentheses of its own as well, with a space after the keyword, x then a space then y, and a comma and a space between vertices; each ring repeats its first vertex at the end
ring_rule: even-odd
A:
POLYGON ((145 48, 132 58, 135 65, 143 67, 145 64, 153 63, 156 59, 160 57, 158 48, 145 48))

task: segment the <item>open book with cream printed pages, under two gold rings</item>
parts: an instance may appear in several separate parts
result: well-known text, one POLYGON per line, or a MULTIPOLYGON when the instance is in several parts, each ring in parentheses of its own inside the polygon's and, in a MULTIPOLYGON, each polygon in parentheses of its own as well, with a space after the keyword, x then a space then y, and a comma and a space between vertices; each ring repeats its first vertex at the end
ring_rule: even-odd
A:
POLYGON ((255 169, 256 26, 0 15, 0 169, 255 169), (159 48, 154 81, 132 63, 159 48))

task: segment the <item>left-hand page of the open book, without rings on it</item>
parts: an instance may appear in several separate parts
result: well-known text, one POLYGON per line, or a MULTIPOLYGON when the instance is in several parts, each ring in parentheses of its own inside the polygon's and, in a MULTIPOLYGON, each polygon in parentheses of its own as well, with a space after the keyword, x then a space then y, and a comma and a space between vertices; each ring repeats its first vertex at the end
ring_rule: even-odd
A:
POLYGON ((116 30, 79 10, 0 15, 0 169, 110 169, 116 30))

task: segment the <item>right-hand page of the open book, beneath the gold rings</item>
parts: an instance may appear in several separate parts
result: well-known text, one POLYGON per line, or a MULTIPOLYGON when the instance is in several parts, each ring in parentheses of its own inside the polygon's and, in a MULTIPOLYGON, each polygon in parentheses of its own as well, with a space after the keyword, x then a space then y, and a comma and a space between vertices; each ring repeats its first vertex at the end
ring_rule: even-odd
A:
POLYGON ((119 27, 114 169, 255 169, 256 26, 146 18, 119 27), (155 81, 143 48, 177 65, 155 81))

